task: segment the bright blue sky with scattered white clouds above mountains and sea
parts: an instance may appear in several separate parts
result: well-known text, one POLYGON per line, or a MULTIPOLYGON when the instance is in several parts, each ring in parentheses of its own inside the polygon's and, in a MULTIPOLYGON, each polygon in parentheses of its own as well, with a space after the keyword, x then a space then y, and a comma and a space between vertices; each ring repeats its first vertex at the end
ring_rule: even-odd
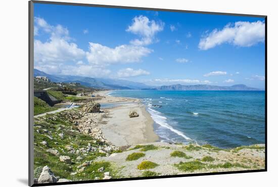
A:
POLYGON ((148 85, 264 88, 264 19, 34 6, 34 67, 148 85))

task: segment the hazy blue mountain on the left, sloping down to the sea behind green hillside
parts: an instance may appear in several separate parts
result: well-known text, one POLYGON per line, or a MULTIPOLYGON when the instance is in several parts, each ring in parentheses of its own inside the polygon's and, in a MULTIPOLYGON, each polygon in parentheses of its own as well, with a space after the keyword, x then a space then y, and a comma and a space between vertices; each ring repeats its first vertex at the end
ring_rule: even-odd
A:
POLYGON ((48 77, 51 79, 52 82, 78 82, 84 86, 102 89, 142 89, 151 87, 145 85, 144 83, 122 79, 91 78, 74 75, 50 75, 37 69, 34 69, 34 77, 35 76, 48 77))

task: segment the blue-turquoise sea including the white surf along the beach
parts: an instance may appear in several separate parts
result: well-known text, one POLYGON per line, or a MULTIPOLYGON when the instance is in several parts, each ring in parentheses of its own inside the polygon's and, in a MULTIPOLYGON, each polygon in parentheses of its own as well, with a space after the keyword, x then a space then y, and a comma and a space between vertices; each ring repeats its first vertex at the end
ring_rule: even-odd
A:
POLYGON ((116 90, 110 95, 141 99, 161 141, 221 148, 264 143, 264 91, 116 90))

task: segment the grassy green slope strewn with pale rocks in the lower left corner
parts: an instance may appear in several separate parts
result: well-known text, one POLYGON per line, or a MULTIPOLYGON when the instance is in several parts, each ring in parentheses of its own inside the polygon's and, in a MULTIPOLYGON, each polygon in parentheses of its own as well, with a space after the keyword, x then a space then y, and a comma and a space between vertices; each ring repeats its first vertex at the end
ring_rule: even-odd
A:
MULTIPOLYGON (((78 110, 70 111, 73 115, 78 115, 78 110)), ((104 171, 109 171, 110 176, 115 176, 116 169, 113 168, 109 162, 94 162, 94 160, 101 156, 106 156, 105 153, 99 153, 99 150, 90 151, 86 155, 81 155, 83 158, 78 163, 76 158, 79 156, 75 154, 79 149, 87 149, 88 143, 91 147, 99 148, 99 146, 108 146, 106 143, 94 139, 88 134, 80 133, 76 129, 76 125, 69 121, 67 112, 56 114, 48 114, 43 117, 34 118, 34 169, 48 165, 54 172, 55 176, 67 178, 70 180, 88 180, 94 177, 103 177, 97 170, 104 166, 104 171), (74 130, 75 129, 75 130, 74 130), (64 137, 59 136, 60 133, 64 137), (46 141, 47 146, 42 142, 46 141), (58 142, 58 144, 57 144, 58 142), (68 147, 71 147, 71 150, 68 147), (72 163, 66 164, 60 161, 59 156, 53 155, 48 152, 49 149, 57 150, 60 155, 69 156, 72 163), (86 166, 84 171, 78 172, 76 175, 70 173, 78 170, 77 166, 85 161, 92 161, 89 166, 86 166), (92 173, 92 171, 95 171, 92 173)), ((37 169, 38 170, 38 169, 37 169)))

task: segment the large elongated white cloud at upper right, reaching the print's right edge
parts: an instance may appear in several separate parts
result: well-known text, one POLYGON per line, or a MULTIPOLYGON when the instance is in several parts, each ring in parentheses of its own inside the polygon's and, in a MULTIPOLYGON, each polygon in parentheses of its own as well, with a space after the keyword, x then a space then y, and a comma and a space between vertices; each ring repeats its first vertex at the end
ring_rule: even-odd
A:
POLYGON ((227 24, 222 30, 214 29, 211 33, 201 38, 200 50, 208 50, 222 43, 231 43, 237 46, 252 46, 263 42, 265 36, 265 23, 239 21, 227 24))

